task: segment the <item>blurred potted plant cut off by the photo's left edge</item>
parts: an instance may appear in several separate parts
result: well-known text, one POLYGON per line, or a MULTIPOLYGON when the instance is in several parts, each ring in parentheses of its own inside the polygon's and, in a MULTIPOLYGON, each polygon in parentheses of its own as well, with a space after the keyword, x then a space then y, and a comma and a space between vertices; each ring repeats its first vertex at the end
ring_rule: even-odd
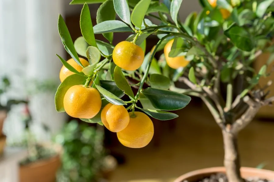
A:
POLYGON ((3 153, 6 143, 6 136, 3 134, 2 130, 7 114, 11 110, 13 104, 26 103, 26 101, 23 100, 6 99, 5 93, 7 93, 9 88, 9 79, 7 77, 2 77, 0 83, 0 155, 3 153))

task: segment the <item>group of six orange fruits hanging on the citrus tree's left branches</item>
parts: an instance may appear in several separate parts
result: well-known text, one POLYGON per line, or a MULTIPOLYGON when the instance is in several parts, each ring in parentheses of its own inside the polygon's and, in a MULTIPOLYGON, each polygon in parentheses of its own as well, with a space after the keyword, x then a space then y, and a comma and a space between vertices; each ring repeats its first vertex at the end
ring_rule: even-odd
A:
MULTIPOLYGON (((186 66, 188 61, 184 59, 184 56, 174 58, 168 56, 172 43, 173 40, 168 42, 164 49, 167 64, 174 69, 186 66)), ((138 69, 144 60, 143 50, 138 45, 127 41, 118 43, 112 56, 117 66, 129 71, 138 69)), ((83 67, 73 59, 69 59, 67 62, 77 71, 82 71, 83 67)), ((80 58, 80 62, 84 67, 89 65, 89 62, 83 58, 80 58)), ((61 82, 72 74, 74 73, 63 66, 60 70, 61 82)), ((100 93, 90 86, 75 85, 67 90, 63 103, 68 115, 91 119, 100 112, 102 106, 100 93)), ((152 140, 154 134, 153 123, 146 114, 138 111, 128 112, 124 106, 112 103, 104 106, 101 111, 101 121, 108 130, 117 133, 118 140, 126 147, 145 147, 152 140)))

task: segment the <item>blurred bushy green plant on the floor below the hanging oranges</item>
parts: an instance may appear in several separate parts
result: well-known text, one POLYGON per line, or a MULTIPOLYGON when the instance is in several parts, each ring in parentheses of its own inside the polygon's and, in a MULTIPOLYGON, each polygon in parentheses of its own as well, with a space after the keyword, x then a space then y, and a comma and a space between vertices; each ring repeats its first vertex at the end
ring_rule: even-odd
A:
POLYGON ((107 179, 117 165, 114 157, 107 156, 103 147, 102 127, 72 120, 55 141, 63 147, 62 167, 57 181, 100 181, 107 179))

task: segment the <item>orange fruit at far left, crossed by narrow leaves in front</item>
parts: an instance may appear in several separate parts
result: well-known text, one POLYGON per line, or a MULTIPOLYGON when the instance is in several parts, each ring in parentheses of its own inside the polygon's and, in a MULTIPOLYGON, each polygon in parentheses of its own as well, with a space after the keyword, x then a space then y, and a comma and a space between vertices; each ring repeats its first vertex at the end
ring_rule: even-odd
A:
MULTIPOLYGON (((84 67, 88 66, 90 63, 86 60, 86 59, 83 59, 83 58, 79 58, 80 59, 80 62, 82 63, 82 65, 84 67)), ((68 64, 70 64, 73 68, 75 68, 77 71, 81 72, 83 67, 80 66, 77 62, 74 61, 74 59, 68 59, 67 61, 68 64)), ((64 79, 66 79, 68 76, 74 74, 74 72, 71 72, 69 71, 64 65, 62 66, 61 70, 60 70, 60 74, 59 74, 59 77, 60 77, 60 81, 63 82, 64 79)))

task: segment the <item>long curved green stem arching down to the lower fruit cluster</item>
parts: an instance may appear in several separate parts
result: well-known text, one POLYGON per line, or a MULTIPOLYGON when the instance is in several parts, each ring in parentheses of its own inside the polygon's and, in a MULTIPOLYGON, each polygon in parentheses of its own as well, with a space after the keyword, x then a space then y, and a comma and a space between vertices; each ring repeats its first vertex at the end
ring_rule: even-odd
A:
POLYGON ((137 92, 137 94, 135 96, 135 102, 137 102, 137 100, 139 99, 139 95, 140 95, 140 92, 142 90, 142 87, 143 87, 144 83, 146 82, 146 78, 148 76, 149 69, 150 69, 150 66, 151 66, 151 62, 152 62, 152 59, 154 58, 156 50, 158 49, 159 45, 163 42, 163 40, 166 39, 166 38, 168 38, 168 37, 170 37, 170 36, 172 36, 172 34, 167 34, 162 39, 160 39, 158 41, 158 43, 155 45, 155 48, 154 48, 152 54, 150 55, 149 63, 147 65, 147 67, 146 67, 146 72, 145 72, 144 76, 142 77, 142 80, 140 82, 140 86, 139 86, 138 92, 137 92))

